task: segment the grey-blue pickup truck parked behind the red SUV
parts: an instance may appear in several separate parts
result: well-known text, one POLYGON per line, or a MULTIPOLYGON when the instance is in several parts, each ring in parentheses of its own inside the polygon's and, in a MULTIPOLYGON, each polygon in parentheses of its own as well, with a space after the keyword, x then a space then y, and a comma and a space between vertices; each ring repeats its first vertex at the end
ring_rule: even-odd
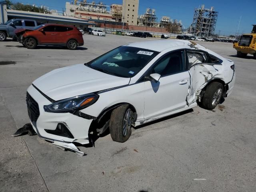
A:
POLYGON ((31 19, 11 19, 0 25, 0 41, 5 41, 7 37, 16 37, 15 30, 17 29, 32 29, 38 26, 35 20, 31 19))

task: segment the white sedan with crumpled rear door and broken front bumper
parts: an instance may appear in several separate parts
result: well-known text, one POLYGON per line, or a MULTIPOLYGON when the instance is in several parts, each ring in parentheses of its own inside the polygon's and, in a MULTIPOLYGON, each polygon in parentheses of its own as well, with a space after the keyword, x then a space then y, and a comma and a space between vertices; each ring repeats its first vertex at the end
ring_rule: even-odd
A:
MULTIPOLYGON (((200 104, 211 110, 233 90, 234 62, 186 40, 126 44, 85 64, 53 70, 27 91, 39 137, 80 152, 108 128, 125 142, 138 126, 200 104)), ((83 154, 83 153, 82 153, 83 154)))

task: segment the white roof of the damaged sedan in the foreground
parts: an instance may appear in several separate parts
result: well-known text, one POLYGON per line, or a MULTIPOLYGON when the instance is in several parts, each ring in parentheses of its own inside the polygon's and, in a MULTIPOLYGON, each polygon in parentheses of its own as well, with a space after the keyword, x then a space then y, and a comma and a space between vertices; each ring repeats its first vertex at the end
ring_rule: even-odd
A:
POLYGON ((128 44, 126 46, 138 47, 142 49, 149 49, 153 51, 162 52, 163 50, 178 47, 178 46, 188 46, 191 42, 187 40, 154 40, 154 41, 144 41, 135 42, 128 44))

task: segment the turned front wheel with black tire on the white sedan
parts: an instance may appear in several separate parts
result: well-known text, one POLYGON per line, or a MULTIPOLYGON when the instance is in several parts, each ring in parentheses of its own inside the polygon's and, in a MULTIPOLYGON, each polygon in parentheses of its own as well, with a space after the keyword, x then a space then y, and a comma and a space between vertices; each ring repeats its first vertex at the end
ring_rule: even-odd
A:
POLYGON ((133 112, 129 105, 121 105, 112 111, 110 117, 110 136, 116 142, 126 142, 132 134, 132 115, 133 112), (125 121, 126 113, 130 112, 130 120, 125 121), (127 123, 125 123, 127 122, 127 123), (124 126, 126 125, 126 131, 124 126))

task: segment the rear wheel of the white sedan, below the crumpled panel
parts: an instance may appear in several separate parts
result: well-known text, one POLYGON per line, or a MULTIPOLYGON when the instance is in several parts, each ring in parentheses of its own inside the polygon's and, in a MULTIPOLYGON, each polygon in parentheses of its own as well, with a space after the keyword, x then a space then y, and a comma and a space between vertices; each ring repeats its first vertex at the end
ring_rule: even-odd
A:
POLYGON ((201 105, 203 108, 212 110, 220 102, 223 94, 223 85, 219 82, 210 83, 204 92, 201 105), (215 99, 215 100, 214 100, 215 99))

